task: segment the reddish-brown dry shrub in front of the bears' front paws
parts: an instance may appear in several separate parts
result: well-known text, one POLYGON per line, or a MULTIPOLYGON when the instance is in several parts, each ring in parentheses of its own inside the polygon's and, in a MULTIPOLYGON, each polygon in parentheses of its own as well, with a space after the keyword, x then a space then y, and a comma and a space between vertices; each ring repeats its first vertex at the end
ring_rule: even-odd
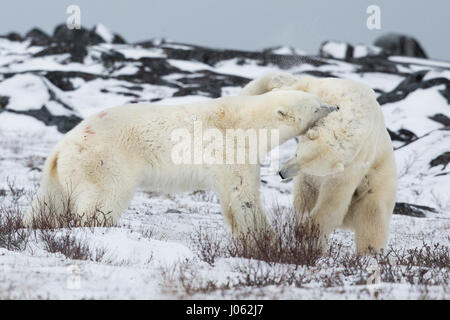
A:
POLYGON ((219 257, 242 257, 267 263, 314 265, 322 255, 319 229, 304 217, 279 206, 272 211, 273 229, 249 229, 239 236, 222 237, 197 229, 191 242, 199 257, 213 265, 219 257))

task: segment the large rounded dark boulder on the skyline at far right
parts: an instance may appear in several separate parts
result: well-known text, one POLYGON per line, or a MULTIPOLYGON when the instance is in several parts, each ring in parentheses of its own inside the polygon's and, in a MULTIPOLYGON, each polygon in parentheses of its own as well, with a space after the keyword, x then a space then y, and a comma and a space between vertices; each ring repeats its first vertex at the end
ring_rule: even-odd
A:
POLYGON ((378 37, 374 44, 392 55, 427 58, 419 42, 407 35, 388 33, 378 37))

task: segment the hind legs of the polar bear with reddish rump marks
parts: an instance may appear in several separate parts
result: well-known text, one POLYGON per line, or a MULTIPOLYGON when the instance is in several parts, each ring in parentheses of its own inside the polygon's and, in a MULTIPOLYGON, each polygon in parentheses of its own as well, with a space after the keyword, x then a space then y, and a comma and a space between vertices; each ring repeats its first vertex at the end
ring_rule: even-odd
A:
POLYGON ((78 149, 68 144, 49 157, 38 196, 24 219, 26 226, 117 223, 137 188, 135 172, 118 167, 108 151, 74 151, 78 149))

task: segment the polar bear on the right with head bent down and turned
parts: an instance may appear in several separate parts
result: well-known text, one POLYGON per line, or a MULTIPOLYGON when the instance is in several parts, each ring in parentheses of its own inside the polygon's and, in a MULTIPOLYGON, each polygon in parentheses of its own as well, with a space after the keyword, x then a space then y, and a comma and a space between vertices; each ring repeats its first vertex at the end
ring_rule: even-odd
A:
POLYGON ((336 228, 355 232, 358 253, 385 248, 396 197, 396 165, 373 90, 350 80, 274 72, 253 80, 241 94, 274 88, 313 93, 340 108, 299 137, 296 156, 280 170, 284 179, 295 177, 295 212, 319 226, 324 249, 336 228))

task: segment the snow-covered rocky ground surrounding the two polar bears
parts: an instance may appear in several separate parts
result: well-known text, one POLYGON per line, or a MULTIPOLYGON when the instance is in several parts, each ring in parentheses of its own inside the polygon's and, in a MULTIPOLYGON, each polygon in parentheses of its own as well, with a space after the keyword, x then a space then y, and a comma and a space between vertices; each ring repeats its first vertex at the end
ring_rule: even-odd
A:
MULTIPOLYGON (((377 92, 396 149, 397 202, 430 207, 420 210, 424 217, 395 214, 389 246, 401 251, 423 242, 440 243, 447 248, 443 261, 448 261, 449 62, 378 56, 373 48, 345 61, 339 53, 329 58, 330 50, 340 48, 333 44, 323 58, 287 47, 245 52, 156 40, 113 43, 114 35, 103 26, 87 37, 75 49, 48 36, 39 38, 41 42, 31 36, 0 38, 2 214, 16 205, 26 210, 45 157, 80 119, 128 102, 173 104, 233 95, 264 72, 283 69, 358 80, 377 92)), ((280 161, 295 149, 294 140, 282 145, 280 161)), ((263 173, 267 210, 275 204, 291 206, 292 182, 283 183, 264 168, 263 173)), ((382 274, 382 282, 373 287, 364 282, 367 270, 357 278, 355 270, 344 272, 343 265, 326 261, 292 271, 291 265, 222 254, 209 264, 201 259, 194 239, 200 228, 221 239, 229 236, 215 194, 140 191, 117 227, 59 231, 88 246, 92 255, 86 259, 51 253, 39 236, 31 236, 20 249, 0 245, 0 299, 450 298, 448 265, 433 264, 416 278, 408 278, 407 272, 397 278, 382 274), (266 281, 283 274, 296 280, 266 281)), ((336 231, 330 241, 342 245, 342 254, 354 250, 350 232, 336 231)))

